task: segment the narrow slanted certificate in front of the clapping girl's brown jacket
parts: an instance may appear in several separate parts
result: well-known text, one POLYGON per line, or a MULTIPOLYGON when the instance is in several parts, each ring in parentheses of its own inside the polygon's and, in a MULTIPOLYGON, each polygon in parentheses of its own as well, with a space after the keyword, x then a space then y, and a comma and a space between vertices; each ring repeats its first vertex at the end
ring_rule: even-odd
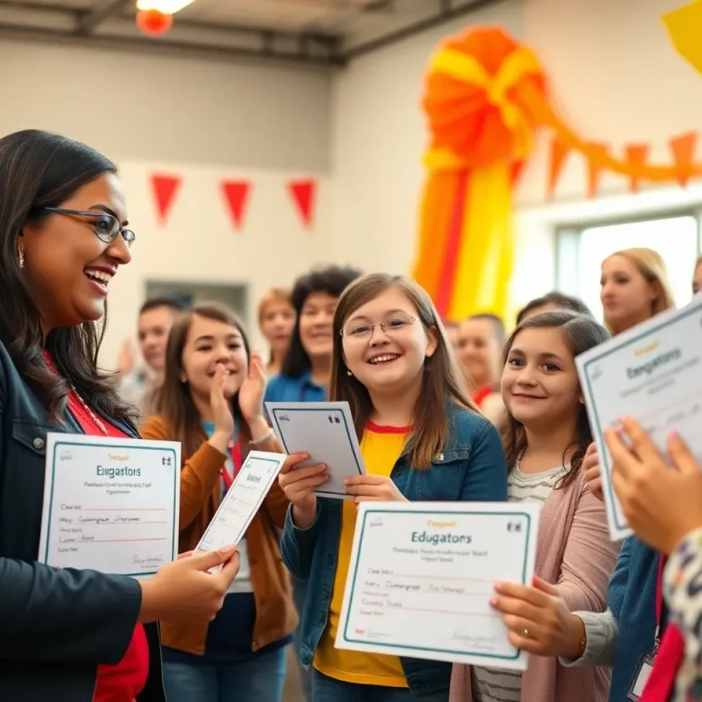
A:
POLYGON ((249 452, 196 550, 214 551, 241 541, 285 459, 283 453, 249 452))

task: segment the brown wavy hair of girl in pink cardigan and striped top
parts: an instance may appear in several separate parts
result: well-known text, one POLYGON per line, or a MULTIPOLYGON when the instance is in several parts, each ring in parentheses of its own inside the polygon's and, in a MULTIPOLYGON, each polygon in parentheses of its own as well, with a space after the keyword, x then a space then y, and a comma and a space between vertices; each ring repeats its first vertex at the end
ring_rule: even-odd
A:
MULTIPOLYGON (((524 319, 524 322, 519 324, 515 331, 512 331, 510 338, 505 343, 505 365, 510 357, 510 351, 515 339, 524 329, 559 329, 566 346, 574 358, 609 339, 609 331, 602 324, 596 322, 593 317, 590 317, 589 314, 581 314, 569 310, 540 312, 539 314, 534 314, 534 317, 524 319)), ((516 465, 524 449, 527 448, 527 434, 524 431, 524 425, 518 422, 509 412, 506 413, 501 434, 505 458, 507 459, 507 465, 511 469, 516 465)), ((592 444, 590 419, 588 418, 588 409, 583 404, 578 414, 576 435, 563 453, 563 465, 565 466, 567 454, 571 449, 575 449, 570 460, 570 470, 559 481, 557 488, 569 486, 578 477, 583 458, 585 458, 585 451, 587 451, 590 444, 592 444)))

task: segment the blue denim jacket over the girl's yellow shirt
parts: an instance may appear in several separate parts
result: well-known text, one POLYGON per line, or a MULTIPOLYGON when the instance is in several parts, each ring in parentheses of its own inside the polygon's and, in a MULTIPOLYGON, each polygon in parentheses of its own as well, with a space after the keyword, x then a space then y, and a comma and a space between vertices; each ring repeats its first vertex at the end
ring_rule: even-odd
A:
MULTIPOLYGON (((497 430, 488 420, 453 403, 446 405, 449 437, 429 470, 412 470, 400 456, 390 477, 410 501, 504 502, 507 465, 497 430)), ((300 663, 305 670, 314 659, 326 628, 341 534, 341 503, 317 500, 317 517, 307 529, 298 529, 291 508, 283 530, 283 561, 293 576, 307 581, 302 614, 300 663)), ((446 689, 451 663, 400 658, 412 694, 446 689)))

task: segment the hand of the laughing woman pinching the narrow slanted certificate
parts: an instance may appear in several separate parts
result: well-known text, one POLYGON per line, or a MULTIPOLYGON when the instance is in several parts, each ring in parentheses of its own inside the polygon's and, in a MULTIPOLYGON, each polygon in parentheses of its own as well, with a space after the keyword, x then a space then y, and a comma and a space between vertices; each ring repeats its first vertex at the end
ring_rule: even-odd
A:
POLYGON ((222 608, 227 588, 238 571, 239 554, 235 546, 178 556, 153 578, 140 582, 142 600, 139 621, 212 621, 222 608), (223 565, 219 573, 208 572, 219 565, 223 565))

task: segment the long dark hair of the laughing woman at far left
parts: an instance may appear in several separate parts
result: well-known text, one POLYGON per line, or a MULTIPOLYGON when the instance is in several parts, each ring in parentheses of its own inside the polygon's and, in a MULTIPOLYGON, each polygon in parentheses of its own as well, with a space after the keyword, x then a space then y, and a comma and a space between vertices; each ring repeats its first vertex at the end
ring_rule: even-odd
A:
POLYGON ((60 206, 105 173, 117 173, 117 166, 58 134, 31 129, 0 139, 0 332, 18 370, 57 422, 65 410, 68 383, 104 416, 132 422, 137 416, 135 406, 119 396, 117 378, 98 370, 105 317, 52 329, 45 338, 39 303, 18 258, 18 238, 26 223, 40 221, 46 217, 42 208, 60 206), (46 364, 44 348, 61 377, 46 364))

